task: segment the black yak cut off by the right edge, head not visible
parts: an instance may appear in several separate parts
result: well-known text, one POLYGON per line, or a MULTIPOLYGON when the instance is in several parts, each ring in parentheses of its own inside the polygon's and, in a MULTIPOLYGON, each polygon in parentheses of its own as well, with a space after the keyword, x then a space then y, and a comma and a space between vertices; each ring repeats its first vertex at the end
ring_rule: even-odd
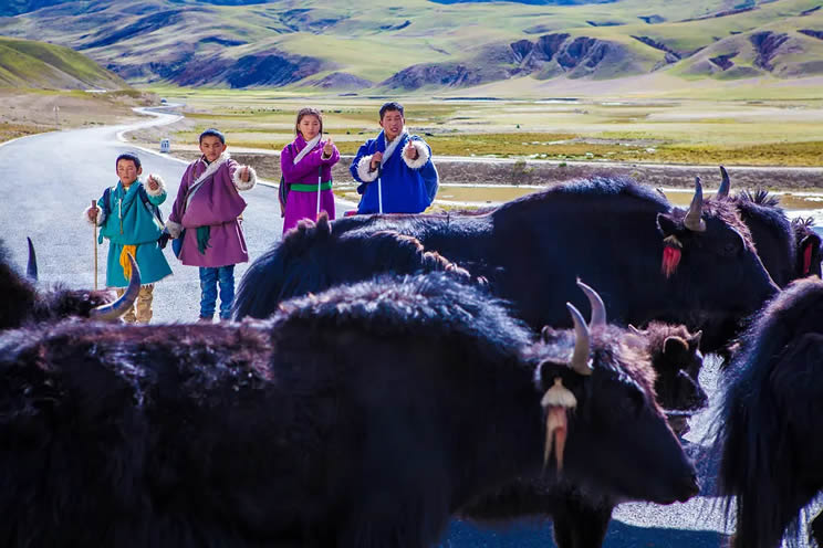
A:
MULTIPOLYGON (((823 282, 789 285, 742 345, 718 418, 718 484, 737 498, 732 546, 777 548, 823 488, 823 282)), ((814 535, 823 546, 821 527, 819 515, 814 535)))

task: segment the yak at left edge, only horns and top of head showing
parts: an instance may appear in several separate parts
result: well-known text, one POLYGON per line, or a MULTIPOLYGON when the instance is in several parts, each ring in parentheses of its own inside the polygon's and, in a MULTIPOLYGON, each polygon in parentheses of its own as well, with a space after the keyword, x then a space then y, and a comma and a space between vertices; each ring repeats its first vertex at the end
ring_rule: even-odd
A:
MULTIPOLYGON (((132 262, 133 266, 136 266, 132 262)), ((117 301, 108 291, 69 289, 58 284, 50 291, 35 287, 38 266, 34 247, 29 240, 28 277, 12 266, 9 252, 0 241, 0 330, 20 327, 32 322, 46 322, 69 316, 111 319, 119 317, 137 296, 140 287, 139 271, 134 267, 134 277, 126 293, 117 301)))

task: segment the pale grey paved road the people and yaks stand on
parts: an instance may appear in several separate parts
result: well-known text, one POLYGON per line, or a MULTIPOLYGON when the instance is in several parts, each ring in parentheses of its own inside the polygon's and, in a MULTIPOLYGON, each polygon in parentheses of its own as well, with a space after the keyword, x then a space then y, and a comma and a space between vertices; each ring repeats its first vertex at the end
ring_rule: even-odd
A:
MULTIPOLYGON (((163 115, 140 124, 169 123, 163 115)), ((81 213, 103 188, 116 182, 114 160, 131 148, 116 135, 134 126, 67 130, 25 137, 0 147, 0 201, 2 238, 20 265, 25 264, 25 236, 34 241, 44 284, 58 281, 74 287, 90 287, 93 282, 93 229, 81 220, 81 213)), ((176 196, 185 164, 165 156, 139 152, 144 172, 160 175, 176 196)), ((249 202, 244 228, 252 257, 260 255, 280 238, 282 230, 277 192, 258 186, 244 194, 249 202)), ((165 214, 170 200, 163 205, 165 214)), ((341 207, 340 209, 346 209, 341 207)), ((170 246, 169 246, 170 247, 170 246)), ((104 281, 105 243, 97 250, 100 281, 104 281)), ((199 284, 197 270, 184 267, 170 249, 166 250, 174 276, 157 285, 155 318, 159 322, 189 322, 198 315, 199 284)), ((240 265, 237 274, 242 275, 240 265)), ((716 365, 706 368, 702 382, 713 392, 716 365)), ((698 418, 688 435, 699 442, 706 432, 706 419, 698 418)), ((701 456, 700 445, 690 450, 700 460, 702 484, 711 487, 712 466, 701 456)), ((619 465, 619 463, 615 463, 619 465)), ((687 504, 667 507, 623 505, 615 512, 607 548, 683 547, 709 548, 721 545, 722 518, 712 510, 712 499, 700 496, 687 504), (708 503, 708 504, 707 504, 708 503)), ((515 524, 494 530, 454 521, 444 539, 448 548, 551 547, 551 527, 546 524, 515 524)))

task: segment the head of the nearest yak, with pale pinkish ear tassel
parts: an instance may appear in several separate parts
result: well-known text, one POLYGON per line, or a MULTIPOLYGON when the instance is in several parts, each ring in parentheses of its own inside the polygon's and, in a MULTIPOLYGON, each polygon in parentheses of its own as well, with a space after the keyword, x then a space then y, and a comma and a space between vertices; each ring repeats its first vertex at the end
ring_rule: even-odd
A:
POLYGON ((696 471, 655 400, 646 340, 607 325, 597 294, 579 285, 592 303, 591 324, 566 304, 574 330, 544 328, 536 345, 545 464, 617 502, 691 498, 696 471))

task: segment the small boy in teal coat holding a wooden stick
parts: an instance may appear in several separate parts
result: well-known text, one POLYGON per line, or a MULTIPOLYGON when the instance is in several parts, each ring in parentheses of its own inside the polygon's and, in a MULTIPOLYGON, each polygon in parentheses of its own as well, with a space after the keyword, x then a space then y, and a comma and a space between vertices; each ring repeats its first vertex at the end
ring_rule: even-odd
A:
POLYGON ((114 287, 118 296, 128 286, 132 275, 128 254, 134 255, 143 285, 135 305, 123 318, 129 323, 148 324, 154 284, 171 274, 171 267, 157 244, 164 228, 158 205, 166 200, 166 186, 156 175, 149 175, 145 185, 139 180, 143 167, 136 155, 119 155, 116 168, 117 185, 106 189, 97 200, 98 207, 86 208, 83 217, 101 228, 100 243, 104 238, 108 240, 106 286, 114 287))

